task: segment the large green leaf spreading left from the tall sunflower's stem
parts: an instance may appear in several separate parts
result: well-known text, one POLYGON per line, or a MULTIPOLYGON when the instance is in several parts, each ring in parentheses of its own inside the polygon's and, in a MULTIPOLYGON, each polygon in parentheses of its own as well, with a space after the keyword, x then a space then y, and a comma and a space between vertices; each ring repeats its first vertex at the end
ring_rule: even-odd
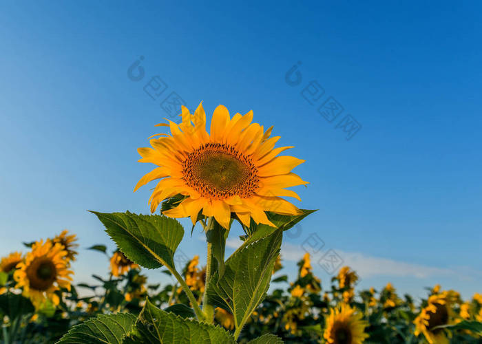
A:
POLYGON ((107 234, 127 258, 145 268, 174 268, 174 252, 184 229, 175 219, 162 215, 97 213, 107 234))

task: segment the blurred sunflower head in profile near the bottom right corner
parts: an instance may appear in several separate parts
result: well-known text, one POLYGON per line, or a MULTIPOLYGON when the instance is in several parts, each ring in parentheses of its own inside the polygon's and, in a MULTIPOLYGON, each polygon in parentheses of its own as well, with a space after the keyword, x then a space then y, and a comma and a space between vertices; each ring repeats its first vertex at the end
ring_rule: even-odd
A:
POLYGON ((454 323, 452 304, 455 301, 454 294, 444 291, 441 294, 434 294, 428 298, 425 308, 415 319, 415 335, 423 333, 430 344, 449 343, 446 332, 443 328, 436 328, 440 325, 454 323))

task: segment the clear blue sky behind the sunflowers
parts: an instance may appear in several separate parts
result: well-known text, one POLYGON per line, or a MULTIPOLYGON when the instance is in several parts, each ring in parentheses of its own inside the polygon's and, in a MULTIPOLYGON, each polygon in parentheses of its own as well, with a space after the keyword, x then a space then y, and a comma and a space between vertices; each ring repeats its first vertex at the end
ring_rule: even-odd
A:
MULTIPOLYGON (((208 114, 219 104, 253 109, 306 160, 295 171, 311 184, 297 189, 298 205, 319 211, 285 237, 291 274, 316 233, 325 245, 314 259, 335 250, 362 287, 392 281, 421 296, 439 282, 465 297, 480 292, 481 7, 4 3, 0 252, 69 228, 80 238, 78 280, 105 274, 107 261, 84 249, 114 246, 86 210, 149 211, 149 188, 132 193, 151 169, 136 148, 158 132, 160 103, 176 92, 208 114), (140 56, 145 76, 130 80, 140 56), (293 65, 298 85, 285 80, 293 65), (144 90, 153 76, 167 87, 155 100, 144 90), (344 109, 333 122, 318 111, 329 97, 344 109), (350 140, 337 127, 348 114, 362 125, 350 140)), ((186 235, 182 252, 203 257, 200 235, 186 235)))

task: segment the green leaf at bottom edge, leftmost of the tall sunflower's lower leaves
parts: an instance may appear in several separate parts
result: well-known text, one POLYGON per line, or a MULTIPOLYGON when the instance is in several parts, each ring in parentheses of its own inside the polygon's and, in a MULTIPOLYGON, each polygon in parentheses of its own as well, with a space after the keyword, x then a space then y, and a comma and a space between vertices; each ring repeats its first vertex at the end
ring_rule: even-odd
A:
POLYGON ((132 330, 136 316, 129 313, 99 315, 72 327, 57 344, 64 343, 123 343, 123 337, 132 330))

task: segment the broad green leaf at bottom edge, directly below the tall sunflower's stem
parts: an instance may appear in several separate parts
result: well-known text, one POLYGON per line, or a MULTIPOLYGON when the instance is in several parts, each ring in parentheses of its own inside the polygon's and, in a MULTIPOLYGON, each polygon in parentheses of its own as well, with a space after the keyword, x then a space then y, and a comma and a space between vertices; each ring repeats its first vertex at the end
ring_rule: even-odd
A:
POLYGON ((125 338, 124 343, 234 344, 235 341, 222 327, 182 319, 176 314, 156 308, 147 299, 134 330, 125 338))

